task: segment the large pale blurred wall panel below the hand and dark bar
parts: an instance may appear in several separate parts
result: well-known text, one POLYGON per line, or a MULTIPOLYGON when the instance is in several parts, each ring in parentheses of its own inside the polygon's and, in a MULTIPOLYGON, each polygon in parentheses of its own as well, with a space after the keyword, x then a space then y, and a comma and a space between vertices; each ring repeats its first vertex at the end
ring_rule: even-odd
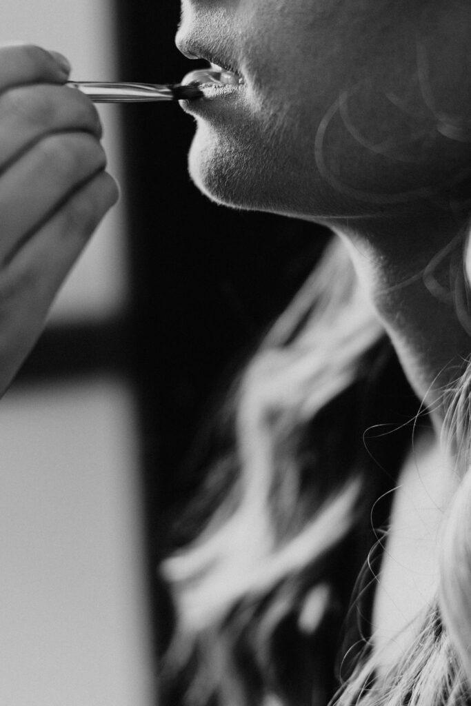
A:
POLYGON ((0 403, 0 703, 150 706, 132 395, 0 403))

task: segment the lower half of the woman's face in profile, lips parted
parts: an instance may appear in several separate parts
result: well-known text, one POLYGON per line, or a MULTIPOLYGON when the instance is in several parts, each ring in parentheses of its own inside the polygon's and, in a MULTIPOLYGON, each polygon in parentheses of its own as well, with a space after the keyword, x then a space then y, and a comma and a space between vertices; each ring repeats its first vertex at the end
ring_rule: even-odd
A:
POLYGON ((450 198, 471 173, 470 36, 469 0, 183 0, 181 49, 244 79, 185 106, 193 179, 317 220, 450 198))

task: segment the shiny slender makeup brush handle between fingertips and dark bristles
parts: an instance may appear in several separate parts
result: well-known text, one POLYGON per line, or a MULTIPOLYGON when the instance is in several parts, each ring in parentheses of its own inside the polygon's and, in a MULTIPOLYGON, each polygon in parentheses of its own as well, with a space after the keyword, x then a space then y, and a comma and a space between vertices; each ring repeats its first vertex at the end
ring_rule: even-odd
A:
POLYGON ((97 83, 96 81, 70 81, 69 88, 77 88, 94 103, 141 103, 160 100, 177 100, 172 85, 155 83, 97 83))

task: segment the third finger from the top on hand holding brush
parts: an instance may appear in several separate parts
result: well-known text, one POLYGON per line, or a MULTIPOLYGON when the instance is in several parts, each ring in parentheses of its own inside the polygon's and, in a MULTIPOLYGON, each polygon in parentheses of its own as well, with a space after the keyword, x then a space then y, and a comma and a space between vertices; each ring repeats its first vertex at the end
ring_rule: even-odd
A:
POLYGON ((106 167, 100 143, 88 133, 49 135, 0 175, 0 263, 51 217, 61 203, 106 167))

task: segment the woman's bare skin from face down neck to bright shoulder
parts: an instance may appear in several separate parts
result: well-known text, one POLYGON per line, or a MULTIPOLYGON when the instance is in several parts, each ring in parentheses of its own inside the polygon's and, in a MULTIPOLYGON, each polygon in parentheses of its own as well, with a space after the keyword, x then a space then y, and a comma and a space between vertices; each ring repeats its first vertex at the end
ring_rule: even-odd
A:
POLYGON ((471 350, 460 297, 470 35, 469 0, 183 0, 177 35, 187 56, 245 81, 184 105, 197 122, 197 186, 218 203, 330 227, 431 411, 434 433, 398 481, 378 580, 374 641, 385 670, 412 638, 407 621, 434 596, 436 537, 457 483, 438 439, 443 388, 471 350), (403 641, 390 642, 401 629, 403 641))

